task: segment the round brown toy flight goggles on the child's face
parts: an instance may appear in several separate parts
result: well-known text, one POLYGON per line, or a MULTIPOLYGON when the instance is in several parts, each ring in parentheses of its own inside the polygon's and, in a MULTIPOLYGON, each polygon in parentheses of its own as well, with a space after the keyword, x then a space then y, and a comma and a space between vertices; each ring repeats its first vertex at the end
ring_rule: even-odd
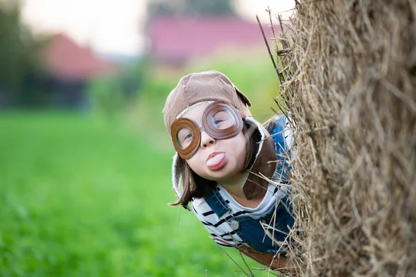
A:
POLYGON ((173 121, 173 146, 182 159, 189 159, 198 151, 203 131, 214 139, 232 138, 243 129, 245 116, 251 116, 248 109, 237 110, 223 101, 212 102, 202 114, 202 126, 189 118, 177 118, 173 121))

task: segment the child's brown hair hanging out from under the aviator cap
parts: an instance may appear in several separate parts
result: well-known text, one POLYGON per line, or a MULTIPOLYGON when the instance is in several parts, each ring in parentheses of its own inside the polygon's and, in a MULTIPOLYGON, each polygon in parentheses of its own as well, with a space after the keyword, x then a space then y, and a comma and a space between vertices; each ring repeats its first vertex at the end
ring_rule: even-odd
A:
MULTIPOLYGON (((261 134, 257 130, 255 125, 251 125, 248 121, 243 120, 244 126, 243 132, 246 137, 246 149, 247 153, 245 155, 245 162, 243 166, 243 171, 248 170, 256 159, 256 153, 259 150, 259 141, 261 140, 261 134)), ((268 120, 264 127, 270 133, 275 127, 275 120, 268 120)), ((182 196, 180 199, 177 199, 176 202, 171 203, 171 206, 187 206, 192 198, 202 198, 209 195, 211 189, 216 186, 216 181, 211 181, 197 175, 193 170, 188 166, 187 161, 181 157, 177 157, 177 166, 178 170, 182 172, 182 196)), ((254 197, 260 197, 263 195, 263 191, 259 191, 258 195, 254 197)))

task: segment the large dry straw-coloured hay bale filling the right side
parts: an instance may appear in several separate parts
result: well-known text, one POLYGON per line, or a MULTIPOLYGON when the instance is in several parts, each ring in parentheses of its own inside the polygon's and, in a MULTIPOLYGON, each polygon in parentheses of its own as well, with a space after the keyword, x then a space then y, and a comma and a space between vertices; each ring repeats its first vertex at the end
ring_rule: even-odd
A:
POLYGON ((416 1, 296 11, 291 258, 301 276, 416 276, 416 1))

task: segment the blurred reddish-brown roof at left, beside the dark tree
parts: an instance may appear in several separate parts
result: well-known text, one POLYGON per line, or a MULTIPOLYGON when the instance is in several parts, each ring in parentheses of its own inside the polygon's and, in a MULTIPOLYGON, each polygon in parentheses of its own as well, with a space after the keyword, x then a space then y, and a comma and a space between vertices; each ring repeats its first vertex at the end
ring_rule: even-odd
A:
POLYGON ((62 34, 55 35, 44 48, 44 64, 51 75, 64 80, 87 80, 115 69, 111 62, 62 34))

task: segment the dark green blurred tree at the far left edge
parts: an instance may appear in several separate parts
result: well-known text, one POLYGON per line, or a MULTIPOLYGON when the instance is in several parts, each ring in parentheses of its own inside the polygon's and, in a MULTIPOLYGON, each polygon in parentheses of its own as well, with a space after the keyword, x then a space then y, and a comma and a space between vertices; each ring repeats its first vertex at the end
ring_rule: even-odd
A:
POLYGON ((43 42, 22 24, 15 1, 0 1, 0 96, 7 102, 28 104, 33 100, 31 88, 42 73, 38 59, 43 42))

